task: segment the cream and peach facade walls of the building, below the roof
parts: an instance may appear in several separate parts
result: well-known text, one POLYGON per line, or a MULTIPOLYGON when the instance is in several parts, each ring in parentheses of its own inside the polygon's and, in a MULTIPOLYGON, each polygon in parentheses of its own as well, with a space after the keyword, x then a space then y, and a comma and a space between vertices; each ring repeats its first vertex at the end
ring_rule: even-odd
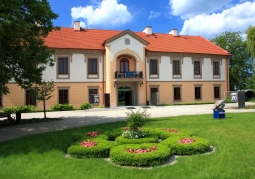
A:
MULTIPOLYGON (((100 99, 99 103, 93 103, 95 106, 104 106, 104 94, 110 94, 110 107, 144 106, 148 103, 158 105, 213 102, 222 99, 224 91, 228 91, 226 56, 148 52, 146 45, 145 41, 139 40, 127 31, 106 40, 104 51, 55 49, 55 65, 48 67, 43 75, 44 80, 55 82, 54 96, 46 101, 46 108, 50 109, 51 106, 59 103, 60 90, 67 90, 68 103, 76 108, 89 102, 90 89, 96 90, 96 95, 100 99), (58 74, 59 58, 68 59, 66 75, 58 74), (90 59, 97 61, 96 74, 89 73, 90 59), (126 60, 125 63, 121 62, 123 59, 126 60), (150 73, 151 60, 156 62, 157 73, 150 73), (174 61, 179 62, 179 75, 173 73, 174 61), (199 75, 194 73, 195 61, 200 62, 199 75), (219 74, 216 76, 213 74, 215 61, 219 64, 219 74), (121 72, 123 67, 121 63, 128 64, 128 71, 133 72, 131 77, 127 77, 128 73, 121 72), (200 90, 200 94, 197 94, 198 99, 195 98, 196 87, 200 90), (215 87, 219 90, 217 97, 215 97, 215 87), (175 88, 178 88, 176 94, 175 88), (156 97, 152 93, 155 93, 156 97), (124 103, 121 103, 121 100, 124 103)), ((2 97, 2 107, 25 105, 27 100, 25 90, 15 83, 8 84, 8 87, 10 94, 2 97)), ((42 102, 37 101, 36 106, 38 109, 43 108, 42 102)))

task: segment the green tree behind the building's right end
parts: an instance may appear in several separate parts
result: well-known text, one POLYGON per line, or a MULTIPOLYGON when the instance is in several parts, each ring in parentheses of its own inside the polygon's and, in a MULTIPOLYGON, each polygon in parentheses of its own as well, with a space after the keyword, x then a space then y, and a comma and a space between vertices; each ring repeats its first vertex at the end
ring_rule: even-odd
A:
POLYGON ((246 89, 253 75, 254 64, 241 32, 223 32, 211 42, 232 54, 229 59, 230 90, 246 89))

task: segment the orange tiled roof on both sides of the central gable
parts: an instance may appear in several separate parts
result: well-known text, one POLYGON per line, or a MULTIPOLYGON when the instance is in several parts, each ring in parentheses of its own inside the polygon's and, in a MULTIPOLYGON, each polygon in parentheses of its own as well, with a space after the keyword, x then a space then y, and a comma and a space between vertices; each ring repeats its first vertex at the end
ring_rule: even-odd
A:
MULTIPOLYGON (((84 29, 74 31, 73 28, 61 28, 59 31, 52 31, 45 39, 49 48, 63 49, 89 49, 105 50, 105 40, 120 34, 120 30, 97 30, 84 29)), ((230 55, 226 50, 211 43, 201 36, 177 36, 170 34, 147 35, 144 32, 134 32, 136 35, 147 41, 146 49, 152 52, 174 52, 174 53, 196 53, 230 55)))

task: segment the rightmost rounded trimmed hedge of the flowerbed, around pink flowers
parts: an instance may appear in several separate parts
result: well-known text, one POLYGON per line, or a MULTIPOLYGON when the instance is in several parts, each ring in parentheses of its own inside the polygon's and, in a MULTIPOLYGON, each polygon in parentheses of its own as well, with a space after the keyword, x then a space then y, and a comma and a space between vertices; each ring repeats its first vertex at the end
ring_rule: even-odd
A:
POLYGON ((176 155, 193 155, 199 153, 205 153, 209 150, 210 144, 207 140, 200 137, 189 137, 192 140, 196 140, 193 143, 181 144, 179 143, 184 137, 176 136, 170 137, 161 142, 161 144, 171 148, 173 154, 176 155))

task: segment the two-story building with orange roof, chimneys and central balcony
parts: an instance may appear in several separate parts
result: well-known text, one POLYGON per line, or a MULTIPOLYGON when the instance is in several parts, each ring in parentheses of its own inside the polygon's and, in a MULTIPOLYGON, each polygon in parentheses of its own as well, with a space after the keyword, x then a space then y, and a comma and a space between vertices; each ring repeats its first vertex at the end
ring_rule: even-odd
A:
MULTIPOLYGON (((201 36, 130 30, 74 28, 51 32, 45 40, 55 50, 54 67, 43 79, 55 82, 47 108, 57 103, 79 107, 143 106, 213 102, 229 89, 230 54, 201 36)), ((15 83, 1 98, 2 107, 37 105, 29 92, 15 83)))

